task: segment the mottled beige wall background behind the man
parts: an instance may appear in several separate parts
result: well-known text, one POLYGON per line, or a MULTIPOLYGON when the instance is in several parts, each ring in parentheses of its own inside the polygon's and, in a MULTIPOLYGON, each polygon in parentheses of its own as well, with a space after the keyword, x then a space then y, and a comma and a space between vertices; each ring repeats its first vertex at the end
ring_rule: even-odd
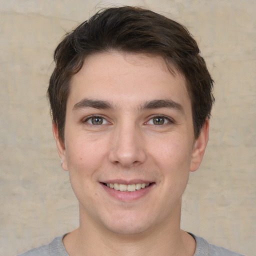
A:
POLYGON ((181 226, 255 255, 256 1, 97 3, 0 0, 0 255, 15 255, 78 225, 45 93, 61 36, 111 3, 151 8, 187 25, 197 39, 215 80, 216 104, 204 161, 183 197, 181 226))

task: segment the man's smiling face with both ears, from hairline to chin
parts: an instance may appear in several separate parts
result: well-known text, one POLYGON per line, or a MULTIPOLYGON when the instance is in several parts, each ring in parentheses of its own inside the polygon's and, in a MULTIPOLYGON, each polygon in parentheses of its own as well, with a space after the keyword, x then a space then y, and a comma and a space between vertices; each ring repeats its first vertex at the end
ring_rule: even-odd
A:
POLYGON ((71 80, 64 143, 53 125, 80 223, 119 234, 179 228, 181 195, 200 164, 207 131, 206 121, 194 139, 185 80, 161 57, 87 57, 71 80))

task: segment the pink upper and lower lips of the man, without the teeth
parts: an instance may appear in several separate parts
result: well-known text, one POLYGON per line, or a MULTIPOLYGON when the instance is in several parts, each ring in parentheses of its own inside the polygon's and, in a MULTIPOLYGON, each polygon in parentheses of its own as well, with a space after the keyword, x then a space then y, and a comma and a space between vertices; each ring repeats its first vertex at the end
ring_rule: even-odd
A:
POLYGON ((131 202, 131 201, 138 200, 141 197, 148 194, 153 189, 155 182, 152 182, 152 181, 150 182, 148 180, 142 180, 142 179, 132 179, 132 180, 111 179, 111 180, 106 180, 104 182, 100 182, 100 185, 104 189, 104 191, 114 199, 117 199, 122 202, 131 202), (141 188, 139 190, 130 192, 130 191, 115 190, 113 188, 106 186, 104 183, 119 183, 119 184, 126 184, 126 185, 136 184, 136 183, 150 183, 150 185, 145 188, 141 188))

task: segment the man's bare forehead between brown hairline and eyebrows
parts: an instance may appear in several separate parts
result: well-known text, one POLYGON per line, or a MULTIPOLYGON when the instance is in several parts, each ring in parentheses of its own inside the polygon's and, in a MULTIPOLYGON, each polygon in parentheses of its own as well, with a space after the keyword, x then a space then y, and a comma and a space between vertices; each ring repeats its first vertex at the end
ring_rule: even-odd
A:
POLYGON ((71 79, 67 103, 82 98, 110 100, 116 105, 169 98, 180 104, 190 102, 184 77, 177 71, 171 73, 162 57, 117 51, 85 58, 71 79))

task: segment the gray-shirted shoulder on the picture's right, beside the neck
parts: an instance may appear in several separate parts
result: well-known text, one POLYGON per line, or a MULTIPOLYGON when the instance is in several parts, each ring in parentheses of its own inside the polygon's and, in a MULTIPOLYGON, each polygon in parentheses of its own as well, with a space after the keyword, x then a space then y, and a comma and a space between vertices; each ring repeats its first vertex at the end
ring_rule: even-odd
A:
MULTIPOLYGON (((191 233, 190 233, 191 234, 191 233)), ((237 252, 208 243, 202 237, 191 234, 196 240, 194 256, 244 256, 237 252)))

